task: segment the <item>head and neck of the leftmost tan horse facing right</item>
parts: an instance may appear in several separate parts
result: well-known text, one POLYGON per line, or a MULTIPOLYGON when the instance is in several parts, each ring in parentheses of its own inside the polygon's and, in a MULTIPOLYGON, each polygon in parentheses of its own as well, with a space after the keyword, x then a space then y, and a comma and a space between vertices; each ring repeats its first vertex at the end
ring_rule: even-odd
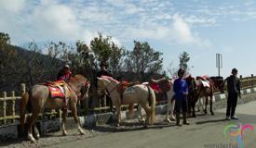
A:
POLYGON ((75 75, 70 80, 68 84, 73 89, 74 93, 81 100, 88 99, 88 90, 90 87, 89 80, 82 75, 75 75))

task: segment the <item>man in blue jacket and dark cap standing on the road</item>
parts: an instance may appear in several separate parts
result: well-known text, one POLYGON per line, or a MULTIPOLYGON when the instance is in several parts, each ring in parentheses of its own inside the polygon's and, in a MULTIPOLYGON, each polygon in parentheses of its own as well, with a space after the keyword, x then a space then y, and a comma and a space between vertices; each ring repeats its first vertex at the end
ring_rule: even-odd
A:
POLYGON ((174 80, 173 91, 175 93, 175 113, 176 113, 176 125, 182 126, 180 123, 180 113, 182 109, 183 124, 189 125, 187 121, 187 95, 188 95, 188 84, 183 79, 185 71, 180 68, 178 71, 179 78, 174 80))

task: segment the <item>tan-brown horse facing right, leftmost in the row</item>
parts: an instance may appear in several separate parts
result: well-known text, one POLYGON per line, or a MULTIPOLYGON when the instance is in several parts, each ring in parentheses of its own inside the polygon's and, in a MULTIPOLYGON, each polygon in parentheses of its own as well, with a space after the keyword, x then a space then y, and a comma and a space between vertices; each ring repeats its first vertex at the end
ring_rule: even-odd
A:
POLYGON ((65 129, 67 109, 68 107, 70 107, 73 113, 76 128, 78 129, 80 134, 85 134, 85 131, 81 128, 79 119, 77 117, 76 105, 80 100, 88 99, 89 81, 82 75, 75 75, 74 77, 71 77, 70 80, 67 80, 67 82, 62 80, 61 83, 62 83, 61 86, 64 90, 63 95, 65 98, 64 97, 51 98, 52 96, 47 86, 47 83, 35 84, 29 90, 29 92, 22 94, 21 101, 20 101, 20 126, 21 126, 21 129, 24 130, 24 124, 26 120, 25 113, 26 113, 26 109, 28 109, 32 113, 32 116, 30 117, 30 120, 28 123, 28 135, 27 135, 27 138, 31 142, 36 142, 35 139, 38 140, 40 137, 38 131, 36 131, 34 127, 34 123, 39 113, 43 112, 44 108, 48 108, 48 109, 62 108, 61 129, 62 129, 62 134, 65 136, 67 135, 67 131, 65 129), (64 103, 63 99, 66 99, 66 103, 64 103), (35 132, 34 133, 35 135, 33 135, 33 130, 35 132))

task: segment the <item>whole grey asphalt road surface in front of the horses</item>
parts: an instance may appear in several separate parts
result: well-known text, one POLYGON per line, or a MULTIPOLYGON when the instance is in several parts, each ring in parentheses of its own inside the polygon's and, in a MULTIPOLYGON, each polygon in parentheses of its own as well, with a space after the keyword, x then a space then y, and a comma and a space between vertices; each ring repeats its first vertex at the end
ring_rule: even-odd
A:
MULTIPOLYGON (((156 116, 156 123, 145 129, 138 121, 126 120, 119 128, 101 125, 86 129, 86 135, 79 135, 76 129, 69 129, 68 136, 61 131, 48 133, 38 142, 31 143, 23 139, 0 143, 4 147, 53 147, 53 148, 233 148, 238 147, 237 137, 231 133, 223 135, 225 127, 234 124, 256 127, 256 94, 248 94, 239 100, 236 116, 239 120, 224 120, 225 101, 216 103, 215 116, 196 113, 189 118, 190 125, 175 126, 175 122, 165 122, 164 116, 156 116)), ((243 130, 244 147, 256 147, 256 129, 243 130)))

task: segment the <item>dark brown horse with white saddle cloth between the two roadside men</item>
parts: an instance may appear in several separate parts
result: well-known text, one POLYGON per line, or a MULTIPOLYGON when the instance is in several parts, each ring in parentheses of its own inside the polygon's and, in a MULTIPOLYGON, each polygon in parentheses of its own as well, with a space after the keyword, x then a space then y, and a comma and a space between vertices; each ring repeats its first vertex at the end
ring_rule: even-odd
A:
POLYGON ((210 114, 214 115, 212 104, 213 104, 213 93, 217 90, 223 92, 223 78, 222 77, 196 77, 196 79, 187 78, 189 88, 191 88, 190 98, 191 99, 190 105, 193 109, 193 117, 195 117, 195 103, 196 101, 201 98, 205 97, 205 107, 204 112, 208 114, 207 106, 208 101, 210 105, 210 114))

